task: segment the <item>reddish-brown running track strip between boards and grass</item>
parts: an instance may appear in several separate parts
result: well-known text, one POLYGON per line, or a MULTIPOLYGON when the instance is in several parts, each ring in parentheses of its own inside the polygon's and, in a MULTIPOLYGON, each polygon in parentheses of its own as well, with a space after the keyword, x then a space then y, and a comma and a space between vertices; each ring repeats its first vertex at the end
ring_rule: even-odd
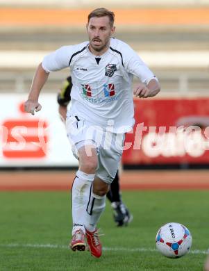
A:
MULTIPOLYGON (((0 190, 69 190, 74 171, 0 172, 0 190)), ((208 190, 207 170, 124 171, 122 190, 208 190)))

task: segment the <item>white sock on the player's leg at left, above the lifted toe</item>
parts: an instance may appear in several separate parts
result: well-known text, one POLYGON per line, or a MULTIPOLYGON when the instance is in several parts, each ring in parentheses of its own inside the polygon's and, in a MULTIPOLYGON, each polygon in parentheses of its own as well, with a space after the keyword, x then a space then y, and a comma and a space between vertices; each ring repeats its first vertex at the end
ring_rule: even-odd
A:
POLYGON ((72 234, 78 229, 82 229, 85 233, 84 217, 92 181, 94 181, 94 174, 86 174, 81 170, 76 172, 76 177, 72 185, 72 234))

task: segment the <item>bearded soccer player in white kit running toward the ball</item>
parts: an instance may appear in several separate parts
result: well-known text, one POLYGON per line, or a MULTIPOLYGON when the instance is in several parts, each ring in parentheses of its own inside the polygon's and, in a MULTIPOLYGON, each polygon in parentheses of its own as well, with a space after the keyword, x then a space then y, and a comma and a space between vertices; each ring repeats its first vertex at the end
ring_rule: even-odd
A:
POLYGON ((79 168, 72 186, 72 250, 87 244, 92 256, 102 253, 97 222, 106 204, 106 193, 122 157, 124 135, 134 124, 133 94, 153 97, 158 79, 128 44, 112 38, 114 13, 97 8, 88 15, 89 41, 61 47, 44 57, 37 67, 31 92, 24 104, 34 115, 41 109, 40 90, 50 72, 69 67, 72 106, 67 113, 67 136, 79 168), (132 90, 133 75, 140 79, 132 90))

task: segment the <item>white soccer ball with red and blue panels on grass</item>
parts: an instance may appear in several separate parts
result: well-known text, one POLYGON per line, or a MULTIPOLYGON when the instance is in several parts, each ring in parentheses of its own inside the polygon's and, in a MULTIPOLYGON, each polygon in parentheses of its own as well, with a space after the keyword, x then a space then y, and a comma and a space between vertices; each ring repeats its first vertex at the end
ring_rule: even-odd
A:
POLYGON ((156 235, 156 247, 169 258, 179 258, 190 250, 192 236, 190 231, 179 223, 167 223, 156 235))

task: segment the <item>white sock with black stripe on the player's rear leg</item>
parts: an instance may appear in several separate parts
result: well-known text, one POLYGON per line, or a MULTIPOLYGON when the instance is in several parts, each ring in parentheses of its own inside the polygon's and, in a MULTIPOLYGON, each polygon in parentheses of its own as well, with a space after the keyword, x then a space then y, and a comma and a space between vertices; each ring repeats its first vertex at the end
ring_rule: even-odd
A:
POLYGON ((94 231, 96 229, 97 222, 99 221, 105 207, 106 195, 98 196, 95 195, 91 190, 84 220, 85 228, 88 231, 94 231))

